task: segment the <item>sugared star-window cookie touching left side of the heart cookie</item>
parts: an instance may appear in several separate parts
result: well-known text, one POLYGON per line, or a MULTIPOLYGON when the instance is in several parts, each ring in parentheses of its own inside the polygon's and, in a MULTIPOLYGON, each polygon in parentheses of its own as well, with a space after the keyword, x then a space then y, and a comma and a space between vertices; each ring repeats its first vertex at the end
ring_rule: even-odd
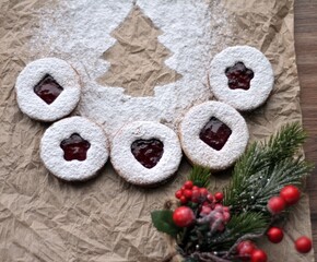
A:
POLYGON ((54 123, 40 141, 40 157, 46 168, 60 179, 90 179, 108 159, 108 143, 103 129, 83 117, 54 123))

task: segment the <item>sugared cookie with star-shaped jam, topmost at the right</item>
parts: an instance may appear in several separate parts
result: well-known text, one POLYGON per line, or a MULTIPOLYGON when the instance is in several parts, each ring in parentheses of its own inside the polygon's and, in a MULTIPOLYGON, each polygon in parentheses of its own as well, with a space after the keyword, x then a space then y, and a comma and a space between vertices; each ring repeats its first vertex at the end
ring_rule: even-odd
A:
POLYGON ((270 61, 249 46, 228 47, 210 64, 210 86, 214 96, 237 110, 253 110, 262 105, 273 88, 270 61))

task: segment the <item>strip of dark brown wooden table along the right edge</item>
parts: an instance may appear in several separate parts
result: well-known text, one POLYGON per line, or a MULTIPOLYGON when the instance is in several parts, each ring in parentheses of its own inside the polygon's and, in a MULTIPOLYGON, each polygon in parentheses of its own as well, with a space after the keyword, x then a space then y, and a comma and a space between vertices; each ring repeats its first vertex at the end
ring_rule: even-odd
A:
POLYGON ((310 196, 313 241, 317 261, 317 0, 295 0, 295 49, 301 83, 301 105, 308 140, 306 158, 315 163, 307 179, 310 196))

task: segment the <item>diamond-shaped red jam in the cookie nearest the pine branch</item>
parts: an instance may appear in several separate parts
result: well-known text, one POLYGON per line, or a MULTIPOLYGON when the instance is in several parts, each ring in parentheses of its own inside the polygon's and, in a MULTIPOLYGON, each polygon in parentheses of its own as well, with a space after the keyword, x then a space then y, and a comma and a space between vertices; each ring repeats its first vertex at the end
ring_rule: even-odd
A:
POLYGON ((199 138, 212 148, 220 151, 231 133, 232 130, 226 124, 212 117, 200 131, 199 138))

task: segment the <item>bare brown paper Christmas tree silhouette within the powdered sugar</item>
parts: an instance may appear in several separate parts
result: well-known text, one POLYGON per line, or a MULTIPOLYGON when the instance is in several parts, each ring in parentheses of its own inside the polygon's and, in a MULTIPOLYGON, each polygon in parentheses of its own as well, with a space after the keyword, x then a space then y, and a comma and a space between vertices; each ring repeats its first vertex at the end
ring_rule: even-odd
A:
POLYGON ((98 82, 124 87, 127 95, 153 96, 154 86, 179 80, 181 75, 164 63, 172 52, 158 41, 160 35, 162 32, 133 5, 125 21, 111 32, 117 41, 103 53, 102 58, 110 62, 110 67, 98 82))

